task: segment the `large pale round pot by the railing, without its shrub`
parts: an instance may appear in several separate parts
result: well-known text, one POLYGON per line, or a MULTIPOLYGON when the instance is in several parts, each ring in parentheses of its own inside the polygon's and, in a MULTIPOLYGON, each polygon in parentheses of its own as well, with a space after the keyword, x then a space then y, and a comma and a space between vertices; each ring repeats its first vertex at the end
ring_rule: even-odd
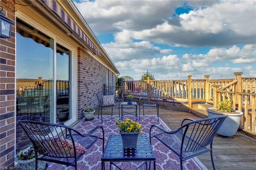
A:
POLYGON ((233 136, 236 134, 240 123, 241 123, 241 115, 243 115, 242 112, 236 111, 238 114, 232 114, 232 113, 221 113, 216 111, 211 111, 209 109, 216 109, 216 107, 210 107, 206 109, 208 113, 208 117, 214 117, 214 116, 220 116, 220 115, 228 115, 228 117, 225 119, 225 121, 222 123, 221 127, 218 130, 218 134, 223 136, 233 136))

